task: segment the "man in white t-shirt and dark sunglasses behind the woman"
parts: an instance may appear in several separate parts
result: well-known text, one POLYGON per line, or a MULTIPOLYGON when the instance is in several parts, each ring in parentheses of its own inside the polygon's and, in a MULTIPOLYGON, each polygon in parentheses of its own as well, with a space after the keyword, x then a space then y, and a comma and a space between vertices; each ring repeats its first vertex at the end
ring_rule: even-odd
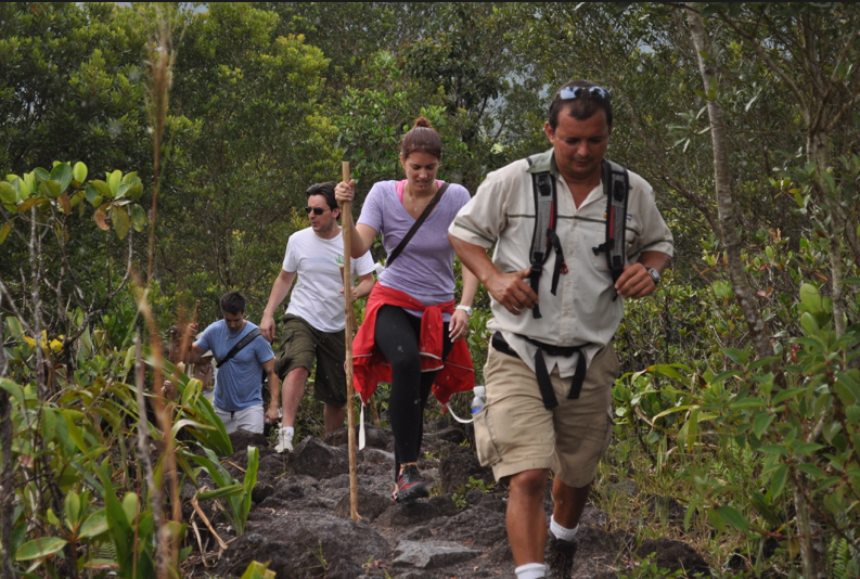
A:
MULTIPOLYGON (((346 359, 344 317, 344 239, 337 218, 341 209, 334 200, 334 183, 318 183, 307 191, 305 210, 310 227, 297 231, 286 243, 284 265, 274 280, 269 304, 262 312, 260 332, 274 340, 274 312, 286 297, 296 274, 284 316, 283 343, 278 352, 277 370, 282 382, 283 419, 275 450, 293 450, 296 413, 305 396, 305 382, 313 361, 317 375, 313 396, 325 403, 325 434, 344 424, 346 404, 346 359)), ((352 260, 359 283, 352 288, 352 300, 370 294, 375 283, 370 253, 352 260)))

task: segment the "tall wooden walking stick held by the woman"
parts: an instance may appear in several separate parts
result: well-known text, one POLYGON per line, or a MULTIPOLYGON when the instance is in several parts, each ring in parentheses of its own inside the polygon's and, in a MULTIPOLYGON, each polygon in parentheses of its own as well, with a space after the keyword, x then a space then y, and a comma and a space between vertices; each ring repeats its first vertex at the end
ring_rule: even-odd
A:
MULTIPOLYGON (((342 165, 343 181, 349 182, 349 162, 345 160, 342 165)), ((341 215, 351 216, 352 204, 344 203, 341 206, 341 215)), ((355 391, 352 387, 352 220, 343 218, 344 223, 344 316, 346 318, 346 332, 344 332, 344 340, 346 342, 346 415, 347 430, 349 440, 349 516, 352 520, 358 520, 361 517, 358 515, 358 459, 356 456, 356 419, 354 416, 354 401, 355 391)))

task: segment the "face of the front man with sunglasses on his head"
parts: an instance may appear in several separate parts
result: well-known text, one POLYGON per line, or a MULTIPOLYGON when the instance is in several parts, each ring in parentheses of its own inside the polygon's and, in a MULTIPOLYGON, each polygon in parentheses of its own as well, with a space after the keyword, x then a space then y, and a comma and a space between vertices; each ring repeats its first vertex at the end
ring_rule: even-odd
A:
POLYGON ((601 162, 609 144, 612 127, 606 124, 606 113, 598 110, 591 117, 579 120, 570 116, 569 108, 559 113, 555 130, 547 123, 547 137, 555 151, 555 163, 567 179, 586 181, 601 172, 601 162))

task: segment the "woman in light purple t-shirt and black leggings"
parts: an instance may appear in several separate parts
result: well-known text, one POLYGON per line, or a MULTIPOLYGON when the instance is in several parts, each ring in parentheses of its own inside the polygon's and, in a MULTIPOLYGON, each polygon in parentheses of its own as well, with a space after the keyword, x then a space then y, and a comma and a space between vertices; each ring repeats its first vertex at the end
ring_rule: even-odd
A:
MULTIPOLYGON (((359 257, 370 249, 382 233, 389 256, 442 186, 436 179, 441 160, 441 140, 429 121, 420 117, 403 137, 400 165, 402 181, 381 181, 364 200, 358 224, 351 228, 351 254, 359 257)), ((355 181, 338 183, 338 203, 354 198, 355 181)), ((440 306, 454 299, 454 252, 448 242, 448 227, 466 203, 468 191, 450 183, 433 213, 421 224, 396 260, 380 274, 383 288, 392 288, 414 298, 425 307, 440 306)), ((343 219, 351 220, 351 215, 343 219)), ((389 259, 390 261, 390 259, 389 259)), ((477 278, 463 268, 463 295, 453 313, 442 313, 442 360, 452 344, 468 330, 472 300, 477 278)), ((381 290, 384 292, 384 290, 381 290)), ((450 308, 450 306, 449 306, 450 308)), ((419 339, 422 311, 394 305, 382 306, 376 313, 374 345, 392 366, 392 394, 388 419, 395 439, 395 494, 398 502, 429 494, 418 469, 424 425, 424 407, 436 372, 422 372, 419 339)))

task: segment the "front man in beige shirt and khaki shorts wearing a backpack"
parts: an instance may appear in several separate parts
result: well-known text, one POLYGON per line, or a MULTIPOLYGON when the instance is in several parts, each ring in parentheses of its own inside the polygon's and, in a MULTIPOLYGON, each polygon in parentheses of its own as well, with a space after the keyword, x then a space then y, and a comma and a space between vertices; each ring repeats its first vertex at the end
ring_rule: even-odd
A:
POLYGON ((564 579, 572 575, 579 517, 612 436, 612 386, 620 371, 611 340, 624 299, 654 292, 672 254, 654 192, 633 172, 622 216, 627 263, 615 282, 606 255, 594 250, 606 241, 601 178, 612 127, 606 89, 583 80, 560 88, 544 127, 552 149, 490 172, 449 229, 460 259, 493 298, 487 402, 475 415, 475 436, 482 463, 510 485, 508 536, 518 579, 545 575, 550 469, 550 570, 564 579), (550 172, 557 194, 555 232, 564 260, 555 292, 555 255, 543 266, 538 291, 528 283, 532 176, 542 171, 550 172), (538 304, 540 317, 534 314, 538 304))

